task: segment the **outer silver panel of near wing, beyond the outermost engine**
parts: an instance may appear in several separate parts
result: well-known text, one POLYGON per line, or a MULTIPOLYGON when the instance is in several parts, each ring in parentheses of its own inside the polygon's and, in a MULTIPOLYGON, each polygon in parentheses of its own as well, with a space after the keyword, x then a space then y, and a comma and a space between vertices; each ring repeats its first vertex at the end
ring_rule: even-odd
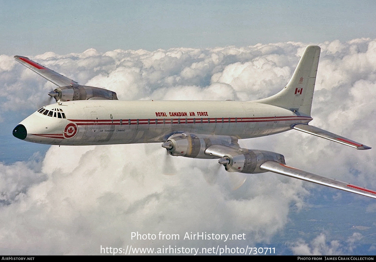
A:
POLYGON ((265 169, 270 172, 274 172, 281 175, 286 175, 288 177, 294 177, 301 180, 309 181, 312 183, 334 187, 344 191, 356 193, 363 196, 369 196, 370 198, 376 198, 376 192, 370 189, 365 189, 363 187, 354 186, 349 183, 344 183, 335 179, 321 177, 320 175, 315 175, 297 168, 292 168, 290 166, 277 163, 274 161, 267 161, 263 163, 260 168, 265 169))

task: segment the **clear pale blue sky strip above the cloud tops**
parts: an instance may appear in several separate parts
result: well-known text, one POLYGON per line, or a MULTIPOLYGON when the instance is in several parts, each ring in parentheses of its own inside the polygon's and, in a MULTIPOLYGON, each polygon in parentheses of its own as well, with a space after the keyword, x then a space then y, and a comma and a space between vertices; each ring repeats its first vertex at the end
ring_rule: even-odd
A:
POLYGON ((1 1, 3 54, 376 37, 374 1, 1 1))

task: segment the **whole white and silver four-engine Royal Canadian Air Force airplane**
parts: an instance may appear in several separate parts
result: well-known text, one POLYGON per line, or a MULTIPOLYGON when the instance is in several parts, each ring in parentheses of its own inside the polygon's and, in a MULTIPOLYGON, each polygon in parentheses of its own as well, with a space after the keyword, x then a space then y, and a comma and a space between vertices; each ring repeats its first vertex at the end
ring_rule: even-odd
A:
POLYGON ((376 198, 376 192, 285 165, 278 153, 241 148, 238 139, 291 129, 356 149, 366 145, 308 125, 319 46, 307 46, 288 84, 274 96, 239 101, 119 101, 115 92, 79 85, 27 57, 24 66, 59 87, 46 105, 21 121, 13 135, 51 145, 103 145, 162 142, 172 156, 219 159, 229 172, 275 172, 376 198))

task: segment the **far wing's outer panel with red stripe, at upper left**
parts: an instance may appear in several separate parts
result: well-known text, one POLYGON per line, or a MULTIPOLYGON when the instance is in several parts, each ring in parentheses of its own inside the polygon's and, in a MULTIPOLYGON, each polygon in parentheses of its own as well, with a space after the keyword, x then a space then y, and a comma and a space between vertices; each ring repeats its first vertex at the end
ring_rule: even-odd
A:
POLYGON ((55 71, 42 66, 41 64, 38 64, 27 57, 15 55, 14 59, 59 87, 78 84, 78 82, 69 79, 64 75, 60 75, 59 73, 56 73, 55 71))

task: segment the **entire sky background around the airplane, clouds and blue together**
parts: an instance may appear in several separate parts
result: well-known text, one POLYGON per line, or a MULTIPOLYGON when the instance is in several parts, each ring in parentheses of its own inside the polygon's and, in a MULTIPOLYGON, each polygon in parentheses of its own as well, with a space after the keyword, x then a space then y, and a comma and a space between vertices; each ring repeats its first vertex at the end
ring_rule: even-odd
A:
MULTIPOLYGON (((304 46, 315 43, 321 58, 312 124, 375 148, 376 106, 368 99, 376 90, 374 1, 0 3, 1 253, 94 254, 100 245, 169 244, 132 242, 131 231, 244 232, 247 241, 235 244, 276 247, 284 255, 376 252, 373 199, 270 173, 230 192, 224 170, 214 185, 203 178, 217 170, 215 161, 173 157, 167 163, 178 174, 161 175, 160 145, 59 148, 11 135, 54 88, 13 55, 123 100, 254 100, 279 91, 304 46)), ((374 149, 322 140, 293 130, 241 145, 376 189, 374 149)))

